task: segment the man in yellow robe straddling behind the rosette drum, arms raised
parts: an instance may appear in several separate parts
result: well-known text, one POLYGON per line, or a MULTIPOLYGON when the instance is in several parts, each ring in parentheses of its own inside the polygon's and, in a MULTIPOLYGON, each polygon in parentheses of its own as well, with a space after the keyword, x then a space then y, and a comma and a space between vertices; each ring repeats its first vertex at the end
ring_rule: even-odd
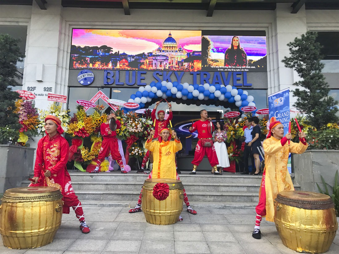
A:
MULTIPOLYGON (((160 130, 160 136, 158 141, 152 142, 152 136, 155 131, 152 130, 148 140, 146 141, 145 148, 153 152, 153 170, 148 175, 149 178, 170 178, 180 180, 175 169, 175 153, 182 149, 182 144, 177 137, 177 133, 172 130, 174 141, 171 141, 171 134, 168 128, 160 130)), ((135 208, 129 210, 129 213, 141 212, 141 194, 135 208)), ((188 198, 183 189, 184 202, 187 206, 187 212, 191 214, 197 214, 197 212, 191 208, 188 198)))

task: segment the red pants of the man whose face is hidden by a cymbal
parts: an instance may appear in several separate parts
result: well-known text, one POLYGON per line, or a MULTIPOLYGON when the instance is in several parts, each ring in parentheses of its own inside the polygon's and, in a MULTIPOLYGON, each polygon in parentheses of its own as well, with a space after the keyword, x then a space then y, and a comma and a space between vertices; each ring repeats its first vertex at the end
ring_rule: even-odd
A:
POLYGON ((116 137, 109 137, 107 139, 103 139, 98 155, 97 166, 98 165, 100 166, 100 164, 105 160, 105 157, 107 157, 109 153, 111 153, 112 159, 116 160, 121 170, 123 170, 124 165, 122 162, 121 154, 119 152, 119 145, 116 137))

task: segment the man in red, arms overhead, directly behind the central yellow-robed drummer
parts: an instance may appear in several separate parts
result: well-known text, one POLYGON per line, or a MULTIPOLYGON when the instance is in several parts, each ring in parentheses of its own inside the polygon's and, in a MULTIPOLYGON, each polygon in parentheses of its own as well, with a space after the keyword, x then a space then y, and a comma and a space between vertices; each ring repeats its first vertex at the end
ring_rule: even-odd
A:
MULTIPOLYGON (((168 109, 169 109, 169 116, 165 120, 165 111, 159 110, 158 111, 158 119, 155 117, 155 112, 157 110, 157 107, 159 106, 160 101, 156 102, 154 109, 152 110, 152 121, 154 123, 155 121, 155 134, 153 139, 157 139, 160 136, 160 130, 162 128, 166 128, 169 124, 169 121, 173 119, 173 112, 172 112, 172 105, 171 103, 167 103, 168 109)), ((149 158, 149 151, 146 152, 144 158, 142 159, 142 164, 141 164, 141 169, 137 171, 137 173, 142 173, 144 172, 144 169, 146 167, 146 163, 148 162, 149 158)))

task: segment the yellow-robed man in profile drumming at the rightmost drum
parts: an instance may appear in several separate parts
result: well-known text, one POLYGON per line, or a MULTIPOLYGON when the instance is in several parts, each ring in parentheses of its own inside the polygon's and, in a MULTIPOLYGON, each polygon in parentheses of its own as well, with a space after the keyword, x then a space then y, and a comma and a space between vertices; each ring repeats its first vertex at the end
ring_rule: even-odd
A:
POLYGON ((260 222, 266 216, 267 221, 274 221, 274 200, 280 191, 294 190, 292 179, 287 171, 288 154, 303 153, 308 145, 305 141, 305 133, 300 131, 299 143, 288 140, 292 139, 291 133, 284 136, 284 126, 275 118, 272 118, 270 132, 263 143, 265 152, 265 169, 262 174, 261 187, 259 190, 259 203, 256 207, 256 220, 252 236, 261 238, 260 222))

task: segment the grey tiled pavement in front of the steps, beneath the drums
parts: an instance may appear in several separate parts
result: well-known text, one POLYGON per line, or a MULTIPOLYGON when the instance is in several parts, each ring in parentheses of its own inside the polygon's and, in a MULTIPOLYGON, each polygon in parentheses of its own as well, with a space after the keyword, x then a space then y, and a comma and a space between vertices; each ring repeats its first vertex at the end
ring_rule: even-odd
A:
MULTIPOLYGON (((174 225, 146 223, 142 212, 129 214, 129 208, 84 207, 91 233, 82 234, 75 214, 64 214, 54 241, 31 250, 11 250, 0 246, 1 254, 285 254, 286 248, 274 223, 262 221, 262 238, 252 235, 253 210, 199 209, 197 215, 182 212, 184 220, 174 225)), ((339 253, 339 233, 327 252, 339 253)), ((0 240, 1 241, 1 240, 0 240)))

